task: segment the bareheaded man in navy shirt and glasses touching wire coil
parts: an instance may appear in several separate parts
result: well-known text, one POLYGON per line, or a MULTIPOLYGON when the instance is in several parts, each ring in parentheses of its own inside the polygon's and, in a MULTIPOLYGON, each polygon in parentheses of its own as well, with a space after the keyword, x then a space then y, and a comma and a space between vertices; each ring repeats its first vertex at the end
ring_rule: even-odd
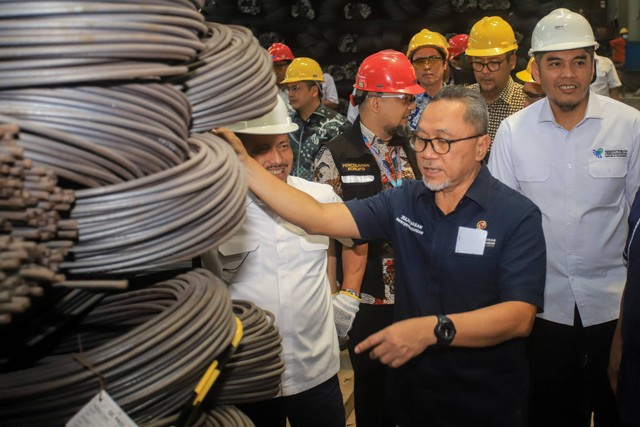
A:
POLYGON ((539 209, 482 165, 491 142, 482 97, 444 88, 411 138, 423 180, 346 204, 320 204, 242 154, 251 189, 288 221, 333 237, 391 240, 395 323, 357 347, 392 368, 391 412, 405 426, 525 425, 523 338, 542 310, 539 209))

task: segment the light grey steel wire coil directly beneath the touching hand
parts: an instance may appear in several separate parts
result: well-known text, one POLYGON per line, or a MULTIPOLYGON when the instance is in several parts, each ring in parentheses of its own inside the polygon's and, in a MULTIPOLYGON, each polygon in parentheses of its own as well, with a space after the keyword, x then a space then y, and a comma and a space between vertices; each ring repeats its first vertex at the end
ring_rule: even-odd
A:
MULTIPOLYGON (((246 173, 213 134, 193 134, 184 163, 136 180, 76 191, 75 273, 131 273, 194 258, 227 240, 245 214, 246 173)), ((67 225, 64 223, 64 225, 67 225)))

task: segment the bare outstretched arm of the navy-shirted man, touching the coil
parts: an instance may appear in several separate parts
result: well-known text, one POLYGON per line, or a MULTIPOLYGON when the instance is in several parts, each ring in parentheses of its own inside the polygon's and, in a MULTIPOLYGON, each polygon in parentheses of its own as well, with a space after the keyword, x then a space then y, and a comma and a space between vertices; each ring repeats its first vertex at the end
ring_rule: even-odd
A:
POLYGON ((344 203, 320 203, 278 178, 253 160, 238 137, 228 129, 217 128, 216 135, 224 138, 238 153, 249 175, 249 188, 276 214, 297 225, 309 234, 359 239, 360 232, 351 212, 344 203))

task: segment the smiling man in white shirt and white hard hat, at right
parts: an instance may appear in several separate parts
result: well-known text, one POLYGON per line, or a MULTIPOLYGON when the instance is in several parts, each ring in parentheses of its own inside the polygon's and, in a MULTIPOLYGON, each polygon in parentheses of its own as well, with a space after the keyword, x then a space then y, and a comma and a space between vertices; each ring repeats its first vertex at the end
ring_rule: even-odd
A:
POLYGON ((542 211, 544 312, 529 338, 530 427, 618 426, 607 380, 626 269, 627 215, 640 185, 640 113, 589 89, 596 43, 589 22, 556 9, 529 54, 547 97, 507 117, 489 158, 493 175, 542 211))

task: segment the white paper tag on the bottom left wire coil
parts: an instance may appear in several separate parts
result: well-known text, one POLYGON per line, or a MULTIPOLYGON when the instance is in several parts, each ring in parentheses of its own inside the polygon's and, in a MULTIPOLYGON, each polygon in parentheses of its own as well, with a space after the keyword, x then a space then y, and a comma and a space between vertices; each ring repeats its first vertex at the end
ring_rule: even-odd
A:
POLYGON ((101 391, 71 418, 66 427, 138 427, 122 408, 101 391))

